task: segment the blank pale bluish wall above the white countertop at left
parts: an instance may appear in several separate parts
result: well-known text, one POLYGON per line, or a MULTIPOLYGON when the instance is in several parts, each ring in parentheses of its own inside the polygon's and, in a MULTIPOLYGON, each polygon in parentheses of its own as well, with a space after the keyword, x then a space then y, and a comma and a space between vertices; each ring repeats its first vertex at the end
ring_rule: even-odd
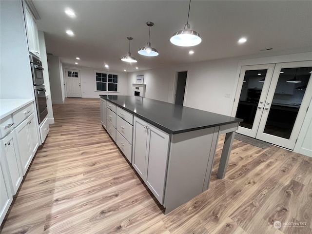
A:
POLYGON ((35 98, 21 1, 0 1, 0 27, 0 98, 35 98))

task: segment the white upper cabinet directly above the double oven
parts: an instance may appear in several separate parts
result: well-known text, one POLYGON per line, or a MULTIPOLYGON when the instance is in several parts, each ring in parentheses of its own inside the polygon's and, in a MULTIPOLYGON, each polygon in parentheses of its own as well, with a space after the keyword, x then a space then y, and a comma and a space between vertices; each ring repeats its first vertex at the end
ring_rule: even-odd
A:
POLYGON ((37 23, 32 13, 26 6, 26 4, 24 6, 24 13, 25 13, 28 51, 40 58, 37 23))

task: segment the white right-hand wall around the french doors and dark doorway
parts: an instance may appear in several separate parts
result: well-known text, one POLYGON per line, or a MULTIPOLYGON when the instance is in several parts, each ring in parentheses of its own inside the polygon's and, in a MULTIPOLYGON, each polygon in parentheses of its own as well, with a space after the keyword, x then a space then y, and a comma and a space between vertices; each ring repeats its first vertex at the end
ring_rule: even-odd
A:
MULTIPOLYGON (((188 71, 184 106, 231 116, 233 115, 232 109, 234 106, 238 75, 242 65, 311 60, 312 53, 245 58, 246 57, 218 59, 193 63, 188 66, 176 66, 128 73, 128 93, 129 95, 131 94, 131 84, 135 83, 136 76, 144 75, 146 98, 173 103, 176 72, 188 71), (230 98, 226 98, 226 94, 229 94, 230 98)), ((312 109, 312 104, 310 104, 309 108, 310 110, 312 109)), ((294 149, 295 152, 300 152, 308 156, 311 153, 308 154, 307 152, 312 152, 311 121, 312 117, 307 115, 294 149), (299 141, 300 137, 301 141, 299 141)))

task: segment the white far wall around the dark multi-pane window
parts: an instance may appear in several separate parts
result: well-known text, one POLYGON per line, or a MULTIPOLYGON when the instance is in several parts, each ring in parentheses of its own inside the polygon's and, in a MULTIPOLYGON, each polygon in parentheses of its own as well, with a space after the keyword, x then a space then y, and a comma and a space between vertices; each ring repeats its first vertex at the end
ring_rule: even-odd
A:
MULTIPOLYGON (((104 69, 95 69, 90 67, 78 67, 69 64, 63 64, 64 69, 75 69, 80 71, 81 79, 81 98, 99 98, 99 95, 128 95, 128 79, 127 73, 105 71, 104 69), (112 72, 118 74, 118 92, 101 92, 96 91, 96 77, 95 71, 112 72)), ((65 77, 65 75, 63 75, 65 77)), ((66 89, 66 86, 65 86, 66 89)), ((66 93, 66 90, 65 90, 66 93)), ((131 93, 130 93, 131 94, 131 93)))

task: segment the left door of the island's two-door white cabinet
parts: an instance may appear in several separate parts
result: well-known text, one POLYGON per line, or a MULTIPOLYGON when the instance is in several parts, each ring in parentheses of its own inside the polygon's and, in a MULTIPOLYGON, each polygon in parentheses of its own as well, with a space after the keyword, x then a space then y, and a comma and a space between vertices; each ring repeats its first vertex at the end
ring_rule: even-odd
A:
POLYGON ((147 125, 147 122, 142 119, 134 118, 132 165, 143 179, 143 173, 145 172, 147 125))

